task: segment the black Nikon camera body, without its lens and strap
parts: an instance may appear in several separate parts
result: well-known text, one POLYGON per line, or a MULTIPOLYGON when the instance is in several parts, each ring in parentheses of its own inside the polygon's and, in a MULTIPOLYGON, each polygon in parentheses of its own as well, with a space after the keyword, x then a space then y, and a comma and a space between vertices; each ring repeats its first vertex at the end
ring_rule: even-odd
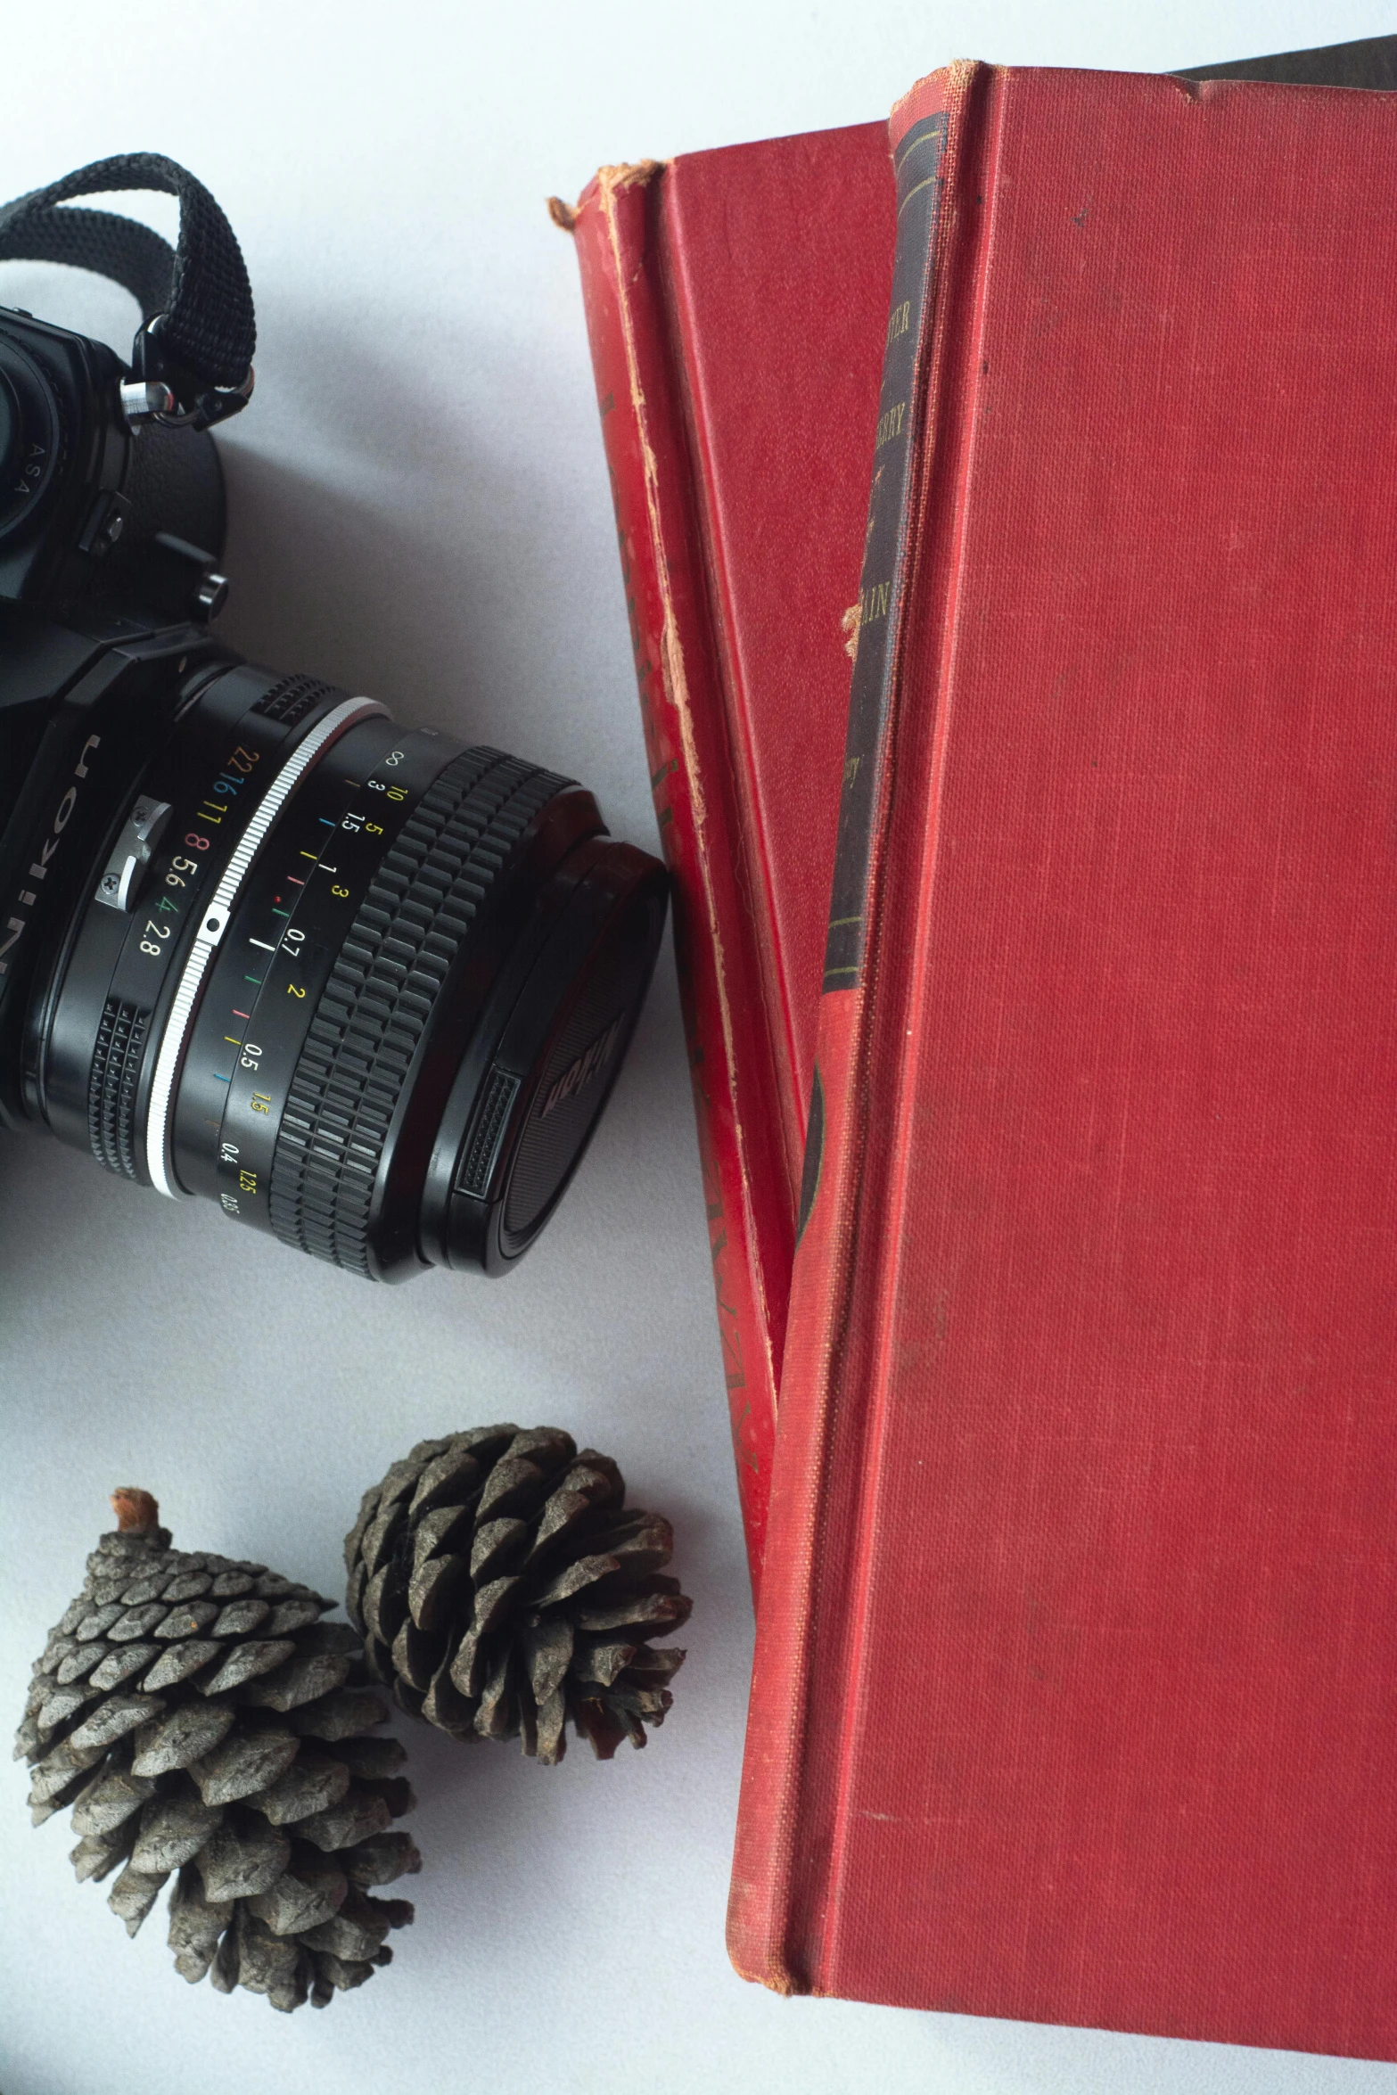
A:
MULTIPOLYGON (((239 658, 207 429, 130 421, 103 341, 0 308, 0 1121, 25 1117, 25 991, 109 802, 239 658)), ((34 1073, 29 1073, 34 1108, 34 1073)))

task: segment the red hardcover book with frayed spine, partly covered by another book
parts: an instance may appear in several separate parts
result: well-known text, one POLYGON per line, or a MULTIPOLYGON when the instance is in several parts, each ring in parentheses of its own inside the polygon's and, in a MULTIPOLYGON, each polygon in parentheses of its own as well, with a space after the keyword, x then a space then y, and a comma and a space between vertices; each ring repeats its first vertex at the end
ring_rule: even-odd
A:
POLYGON ((572 218, 756 1584, 894 245, 884 124, 605 168, 572 218))

